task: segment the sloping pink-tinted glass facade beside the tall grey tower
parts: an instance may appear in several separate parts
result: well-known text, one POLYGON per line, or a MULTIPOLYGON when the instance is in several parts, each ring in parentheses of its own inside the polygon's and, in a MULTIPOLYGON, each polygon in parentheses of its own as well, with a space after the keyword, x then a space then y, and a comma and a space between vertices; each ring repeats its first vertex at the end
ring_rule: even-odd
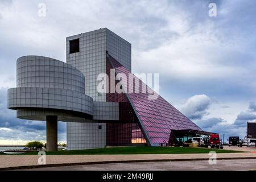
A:
MULTIPOLYGON (((112 56, 108 55, 106 61, 107 73, 109 73, 110 68, 114 68, 116 74, 122 73, 127 78, 129 77, 131 72, 112 56)), ((168 143, 172 130, 203 131, 161 96, 155 100, 149 100, 148 96, 152 93, 152 89, 147 88, 145 84, 143 85, 143 82, 137 77, 134 76, 134 81, 129 80, 126 86, 127 93, 107 94, 107 101, 121 102, 119 105, 121 123, 107 125, 107 144, 108 142, 118 143, 117 140, 121 140, 123 144, 138 141, 138 143, 158 146, 160 143, 168 143), (135 80, 140 82, 140 93, 134 93, 135 80), (131 93, 132 90, 129 88, 132 88, 134 92, 131 93)))

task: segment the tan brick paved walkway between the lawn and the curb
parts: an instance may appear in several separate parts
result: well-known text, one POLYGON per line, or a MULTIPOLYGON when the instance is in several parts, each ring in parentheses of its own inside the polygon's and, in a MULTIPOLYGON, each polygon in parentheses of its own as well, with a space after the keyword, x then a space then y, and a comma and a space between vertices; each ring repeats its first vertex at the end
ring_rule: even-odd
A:
MULTIPOLYGON (((52 167, 101 163, 208 160, 208 154, 137 154, 137 155, 47 155, 46 165, 38 164, 37 155, 0 155, 0 169, 52 167)), ((217 159, 256 159, 255 152, 217 154, 217 159)))

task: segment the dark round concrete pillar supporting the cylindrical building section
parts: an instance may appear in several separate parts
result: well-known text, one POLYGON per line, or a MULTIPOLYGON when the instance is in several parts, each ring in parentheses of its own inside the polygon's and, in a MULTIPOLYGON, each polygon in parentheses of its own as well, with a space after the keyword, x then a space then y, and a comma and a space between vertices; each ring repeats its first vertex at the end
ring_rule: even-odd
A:
POLYGON ((57 129, 58 119, 56 115, 47 115, 46 117, 46 150, 57 151, 57 129))

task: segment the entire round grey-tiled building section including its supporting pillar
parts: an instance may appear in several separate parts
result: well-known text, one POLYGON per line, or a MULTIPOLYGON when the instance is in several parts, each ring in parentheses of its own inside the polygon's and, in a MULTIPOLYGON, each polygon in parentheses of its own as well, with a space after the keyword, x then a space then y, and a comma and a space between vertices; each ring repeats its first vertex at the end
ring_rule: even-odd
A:
POLYGON ((85 77, 78 69, 43 56, 16 62, 16 88, 8 90, 8 108, 21 119, 46 121, 47 151, 57 151, 57 121, 93 118, 93 99, 86 96, 85 77))

